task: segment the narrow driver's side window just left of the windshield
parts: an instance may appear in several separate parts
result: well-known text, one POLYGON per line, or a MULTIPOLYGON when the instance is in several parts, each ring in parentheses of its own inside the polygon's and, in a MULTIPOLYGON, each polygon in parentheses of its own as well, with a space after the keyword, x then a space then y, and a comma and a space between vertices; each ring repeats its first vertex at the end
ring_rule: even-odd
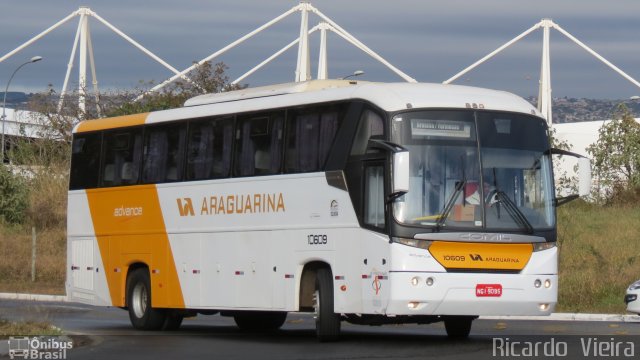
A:
POLYGON ((364 223, 384 228, 384 167, 366 166, 364 181, 364 223))

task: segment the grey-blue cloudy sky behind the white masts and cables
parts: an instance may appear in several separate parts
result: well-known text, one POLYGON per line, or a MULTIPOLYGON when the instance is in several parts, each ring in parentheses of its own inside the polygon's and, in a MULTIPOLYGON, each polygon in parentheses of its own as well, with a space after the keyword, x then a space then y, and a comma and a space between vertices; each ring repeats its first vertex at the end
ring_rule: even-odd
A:
MULTIPOLYGON (((3 0, 0 56, 53 25, 81 5, 140 42, 178 69, 188 67, 297 4, 284 0, 3 0)), ((640 1, 483 0, 483 1, 312 1, 371 49, 422 82, 441 82, 539 22, 551 18, 632 77, 640 79, 640 1)), ((310 25, 319 18, 310 16, 310 25)), ((42 62, 21 70, 11 90, 59 91, 67 69, 78 19, 0 63, 0 85, 31 56, 42 62)), ((171 73, 91 19, 98 81, 102 90, 127 89, 140 80, 156 82, 171 73)), ((251 67, 295 39, 299 15, 214 61, 230 66, 229 76, 251 67)), ((312 68, 318 36, 311 41, 312 68)), ((521 96, 537 94, 542 31, 536 31, 457 84, 489 87, 521 96)), ((247 78, 249 85, 292 81, 296 49, 247 78)), ((77 61, 72 83, 77 82, 77 61)), ((599 63, 557 31, 551 33, 553 95, 622 99, 640 89, 599 63)), ((335 35, 329 36, 329 76, 364 70, 363 80, 402 81, 335 35)), ((313 69, 315 74, 315 69, 313 69)))

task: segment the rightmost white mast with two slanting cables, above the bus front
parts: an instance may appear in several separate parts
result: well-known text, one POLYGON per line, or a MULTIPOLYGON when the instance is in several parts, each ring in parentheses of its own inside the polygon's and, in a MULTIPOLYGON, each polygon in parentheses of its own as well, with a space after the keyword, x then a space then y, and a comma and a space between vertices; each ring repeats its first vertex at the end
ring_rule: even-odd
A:
POLYGON ((554 23, 553 20, 551 20, 551 19, 542 19, 539 23, 535 24, 534 26, 532 26, 531 28, 529 28, 528 30, 523 32, 522 34, 520 34, 520 35, 516 36, 515 38, 511 39, 510 41, 508 41, 504 45, 500 46, 496 50, 494 50, 491 53, 487 54, 485 57, 483 57, 480 60, 476 61, 475 63, 471 64, 466 69, 464 69, 461 72, 457 73, 456 75, 452 76, 448 80, 443 81, 442 83, 443 84, 452 83, 453 81, 455 81, 456 79, 460 78, 464 74, 466 74, 469 71, 475 69, 478 65, 484 63, 485 61, 487 61, 490 58, 492 58, 494 55, 498 54, 502 50, 508 48, 509 46, 513 45, 517 41, 521 40, 525 36, 529 35, 530 33, 534 32, 535 30, 540 29, 540 28, 543 29, 543 38, 542 38, 543 40, 542 40, 542 65, 540 67, 540 88, 539 88, 539 92, 538 92, 538 110, 542 113, 542 115, 545 117, 545 119, 547 119, 547 122, 549 123, 549 125, 551 125, 552 122, 553 122, 552 112, 551 112, 551 107, 552 107, 551 106, 552 105, 551 104, 552 103, 552 98, 551 98, 551 61, 550 61, 551 56, 550 56, 550 51, 549 51, 549 35, 550 35, 549 33, 550 33, 551 29, 558 30, 562 35, 566 36, 569 40, 571 40, 574 43, 576 43, 578 46, 580 46, 581 48, 586 50, 589 54, 593 55, 596 59, 600 60, 605 65, 607 65, 608 67, 613 69, 615 72, 617 72, 618 74, 622 75, 622 77, 624 77, 625 79, 629 80, 635 86, 640 88, 640 82, 638 82, 636 79, 634 79, 631 76, 629 76, 624 71, 620 70, 617 66, 613 65, 611 62, 609 62, 607 59, 602 57, 600 54, 598 54, 597 52, 592 50, 590 47, 585 45, 583 42, 581 42, 580 40, 576 39, 573 35, 571 35, 566 30, 561 28, 560 25, 554 23))

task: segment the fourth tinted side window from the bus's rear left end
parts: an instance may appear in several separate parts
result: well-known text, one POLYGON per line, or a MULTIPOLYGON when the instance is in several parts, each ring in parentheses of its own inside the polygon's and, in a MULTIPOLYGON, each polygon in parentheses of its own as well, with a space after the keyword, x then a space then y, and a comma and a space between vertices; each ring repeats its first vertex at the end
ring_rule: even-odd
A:
POLYGON ((229 176, 233 118, 193 121, 189 125, 187 180, 229 176))

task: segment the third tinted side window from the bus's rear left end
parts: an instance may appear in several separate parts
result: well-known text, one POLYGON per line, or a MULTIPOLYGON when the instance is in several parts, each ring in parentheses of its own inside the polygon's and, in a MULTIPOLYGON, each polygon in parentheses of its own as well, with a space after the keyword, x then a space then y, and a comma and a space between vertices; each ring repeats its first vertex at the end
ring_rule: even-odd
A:
POLYGON ((160 125, 145 130, 142 182, 182 179, 186 124, 160 125))

